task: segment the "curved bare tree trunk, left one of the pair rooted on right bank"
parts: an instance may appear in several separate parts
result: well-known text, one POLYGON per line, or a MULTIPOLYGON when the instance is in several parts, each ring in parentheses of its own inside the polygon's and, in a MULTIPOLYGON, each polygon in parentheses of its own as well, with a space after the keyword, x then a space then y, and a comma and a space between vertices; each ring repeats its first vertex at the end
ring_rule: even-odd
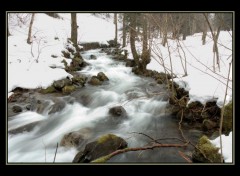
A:
POLYGON ((131 13, 130 14, 130 45, 131 45, 133 59, 135 63, 139 65, 139 55, 136 50, 135 39, 136 39, 136 14, 131 13))

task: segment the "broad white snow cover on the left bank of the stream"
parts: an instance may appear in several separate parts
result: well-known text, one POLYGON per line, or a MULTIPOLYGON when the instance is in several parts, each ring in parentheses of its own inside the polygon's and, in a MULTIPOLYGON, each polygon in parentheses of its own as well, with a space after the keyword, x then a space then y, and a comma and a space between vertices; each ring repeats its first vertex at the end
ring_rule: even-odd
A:
MULTIPOLYGON (((61 53, 64 47, 71 47, 67 43, 67 38, 71 35, 71 16, 64 13, 60 16, 62 19, 52 18, 43 13, 35 14, 32 45, 26 42, 29 22, 20 26, 9 25, 11 33, 8 37, 9 93, 16 87, 46 88, 55 80, 71 77, 64 70, 62 63, 64 59, 69 65, 71 59, 63 58, 61 53), (51 57, 52 55, 57 58, 51 57)), ((28 18, 30 19, 30 16, 28 18)), ((79 42, 107 43, 114 38, 112 21, 89 13, 78 13, 77 23, 79 42)))

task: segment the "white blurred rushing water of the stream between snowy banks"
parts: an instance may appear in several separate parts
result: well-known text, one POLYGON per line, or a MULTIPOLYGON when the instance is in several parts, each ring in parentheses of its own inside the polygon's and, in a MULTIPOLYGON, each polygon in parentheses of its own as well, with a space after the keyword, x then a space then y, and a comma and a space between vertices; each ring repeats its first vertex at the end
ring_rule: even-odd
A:
MULTIPOLYGON (((91 136, 88 142, 102 134, 113 133, 123 137, 129 147, 141 147, 150 142, 146 136, 132 132, 145 133, 155 139, 181 138, 178 121, 165 114, 167 99, 164 85, 136 76, 130 67, 99 50, 85 52, 83 57, 90 65, 80 73, 92 76, 101 71, 109 81, 101 86, 86 84, 86 87, 63 97, 62 100, 71 98, 73 101, 60 112, 48 115, 48 109, 42 114, 23 112, 9 118, 8 130, 36 121, 37 125, 29 132, 8 134, 8 162, 53 162, 56 144, 60 143, 64 134, 84 128, 91 136), (91 54, 97 59, 91 60, 91 54), (159 95, 152 95, 156 93, 159 95), (128 119, 119 124, 109 123, 109 108, 119 105, 127 111, 128 119)), ((52 102, 49 102, 51 105, 52 102)), ((179 141, 171 139, 162 143, 179 141)), ((84 145, 79 150, 83 148, 84 145)), ((189 148, 129 152, 115 156, 109 162, 186 162, 179 151, 187 152, 189 148)), ((77 152, 74 147, 58 147, 55 162, 72 162, 77 152)))

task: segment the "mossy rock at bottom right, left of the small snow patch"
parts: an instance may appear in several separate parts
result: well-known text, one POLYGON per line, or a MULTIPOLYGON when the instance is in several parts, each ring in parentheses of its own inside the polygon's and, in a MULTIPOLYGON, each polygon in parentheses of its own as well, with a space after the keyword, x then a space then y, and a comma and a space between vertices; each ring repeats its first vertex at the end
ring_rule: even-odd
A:
POLYGON ((220 163, 221 155, 218 153, 219 148, 215 147, 207 136, 202 136, 192 155, 194 162, 200 163, 220 163))

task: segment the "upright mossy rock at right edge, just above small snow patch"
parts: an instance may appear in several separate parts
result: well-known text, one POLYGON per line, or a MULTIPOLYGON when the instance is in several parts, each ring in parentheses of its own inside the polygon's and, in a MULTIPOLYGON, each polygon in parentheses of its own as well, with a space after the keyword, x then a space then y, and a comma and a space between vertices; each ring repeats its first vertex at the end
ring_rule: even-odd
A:
POLYGON ((225 106, 223 113, 223 133, 228 135, 232 131, 233 126, 233 110, 232 110, 232 102, 228 103, 225 106))

